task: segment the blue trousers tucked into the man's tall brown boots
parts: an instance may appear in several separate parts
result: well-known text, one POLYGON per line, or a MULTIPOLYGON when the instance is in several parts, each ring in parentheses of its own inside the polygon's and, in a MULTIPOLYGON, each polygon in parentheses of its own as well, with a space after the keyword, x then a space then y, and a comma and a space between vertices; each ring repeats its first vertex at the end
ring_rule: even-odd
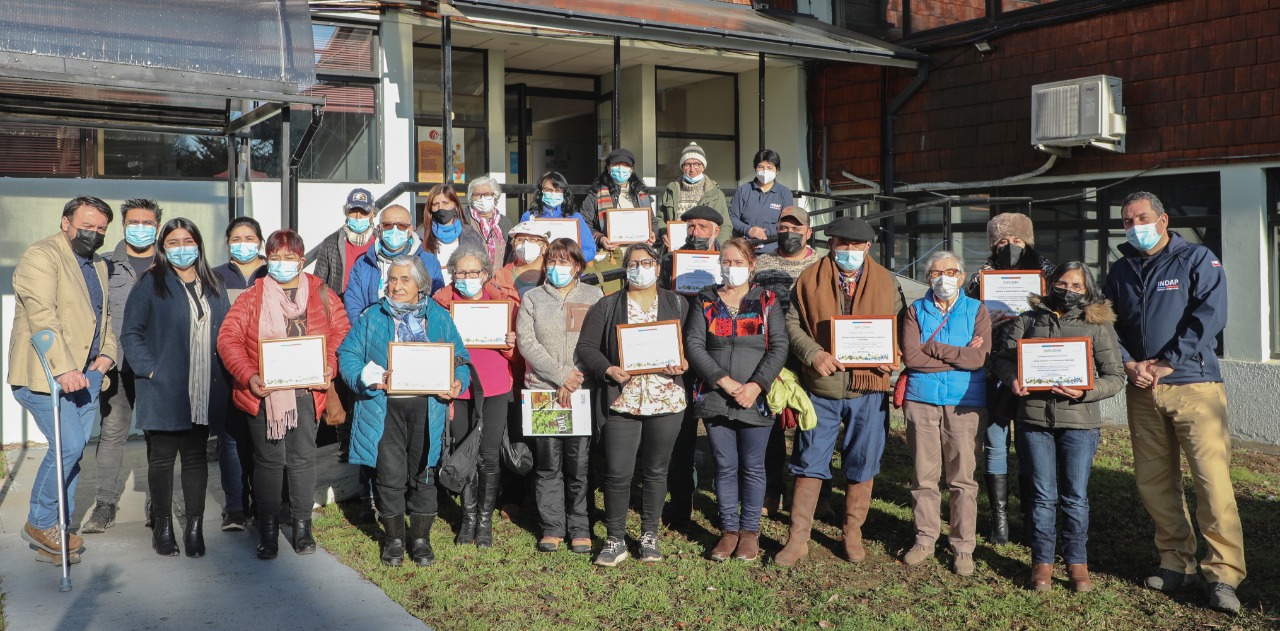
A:
POLYGON ((791 475, 831 480, 831 452, 840 443, 840 461, 849 484, 865 483, 879 474, 888 435, 888 408, 884 393, 863 394, 851 399, 824 399, 810 394, 818 412, 818 426, 796 431, 791 453, 791 475), (841 435, 840 425, 845 425, 841 435))

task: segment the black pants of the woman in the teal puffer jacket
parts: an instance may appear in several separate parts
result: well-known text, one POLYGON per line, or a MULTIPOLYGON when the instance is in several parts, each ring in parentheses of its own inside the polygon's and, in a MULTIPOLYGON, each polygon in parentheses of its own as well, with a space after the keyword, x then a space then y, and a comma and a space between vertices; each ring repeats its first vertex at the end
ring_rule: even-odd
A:
MULTIPOLYGON (((388 397, 378 442, 378 512, 384 516, 435 515, 439 500, 428 471, 428 397, 388 397)), ((454 413, 454 420, 460 415, 454 413)), ((452 427, 451 427, 452 430, 452 427)))

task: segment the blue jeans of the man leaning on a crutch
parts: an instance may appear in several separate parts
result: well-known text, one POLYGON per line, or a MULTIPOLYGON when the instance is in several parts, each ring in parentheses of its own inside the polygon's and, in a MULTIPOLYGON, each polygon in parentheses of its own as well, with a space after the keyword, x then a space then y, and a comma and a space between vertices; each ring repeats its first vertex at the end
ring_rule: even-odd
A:
MULTIPOLYGON (((59 397, 58 410, 61 415, 63 426, 63 475, 67 489, 67 515, 68 518, 76 512, 76 481, 79 479, 79 461, 84 454, 84 445, 97 422, 97 395, 102 390, 102 374, 91 371, 84 374, 88 378, 88 388, 73 393, 63 393, 59 397)), ((52 397, 45 393, 32 392, 29 388, 14 388, 13 397, 18 404, 27 410, 36 419, 36 426, 49 440, 49 451, 40 461, 36 470, 36 480, 31 486, 31 512, 27 521, 37 530, 50 529, 58 525, 58 462, 54 452, 54 406, 52 397)))

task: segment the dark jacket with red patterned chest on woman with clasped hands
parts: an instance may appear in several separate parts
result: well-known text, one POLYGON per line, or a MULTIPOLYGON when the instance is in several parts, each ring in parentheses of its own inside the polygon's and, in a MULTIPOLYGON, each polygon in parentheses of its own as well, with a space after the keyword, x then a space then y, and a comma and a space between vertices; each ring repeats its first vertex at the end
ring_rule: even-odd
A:
POLYGON ((690 398, 699 419, 730 419, 748 425, 773 425, 765 415, 764 398, 787 361, 787 320, 778 297, 751 285, 730 317, 716 293, 721 285, 704 288, 690 303, 685 324, 685 357, 694 371, 690 398), (716 384, 730 378, 760 387, 756 404, 744 408, 716 384))

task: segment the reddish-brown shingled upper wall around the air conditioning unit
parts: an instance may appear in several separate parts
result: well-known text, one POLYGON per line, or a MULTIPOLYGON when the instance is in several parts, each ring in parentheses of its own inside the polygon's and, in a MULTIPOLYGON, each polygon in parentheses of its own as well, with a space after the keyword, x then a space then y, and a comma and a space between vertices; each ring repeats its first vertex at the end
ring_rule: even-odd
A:
MULTIPOLYGON (((1280 152, 1280 0, 1156 3, 991 44, 987 55, 972 45, 931 51, 936 68, 899 110, 896 180, 998 179, 1039 166, 1047 155, 1030 146, 1032 86, 1092 74, 1124 79, 1128 152, 1076 148, 1052 175, 1280 152)), ((881 179, 881 76, 847 65, 813 77, 833 186, 847 182, 841 170, 881 179)), ((913 73, 890 69, 888 78, 892 99, 913 73)))

